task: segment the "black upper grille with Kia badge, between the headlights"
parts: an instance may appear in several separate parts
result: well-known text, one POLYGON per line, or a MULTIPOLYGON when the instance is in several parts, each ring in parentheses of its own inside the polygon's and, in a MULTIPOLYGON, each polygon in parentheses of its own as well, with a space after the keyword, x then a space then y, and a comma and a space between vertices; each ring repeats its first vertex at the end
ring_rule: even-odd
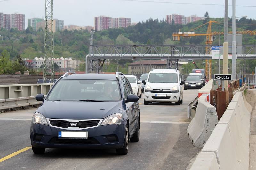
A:
POLYGON ((68 128, 68 127, 78 127, 78 128, 87 128, 97 126, 100 120, 83 120, 78 122, 69 122, 67 120, 53 120, 50 119, 50 123, 52 126, 57 126, 61 128, 68 128), (76 126, 71 126, 70 123, 77 123, 76 126))

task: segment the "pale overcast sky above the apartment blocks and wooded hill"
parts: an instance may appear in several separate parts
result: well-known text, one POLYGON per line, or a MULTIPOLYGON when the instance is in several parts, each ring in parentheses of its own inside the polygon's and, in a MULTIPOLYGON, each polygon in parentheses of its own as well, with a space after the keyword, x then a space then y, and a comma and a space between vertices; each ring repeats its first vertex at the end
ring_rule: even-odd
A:
MULTIPOLYGON (((143 0, 141 0, 143 1, 143 0)), ((224 4, 224 0, 147 0, 158 2, 224 4)), ((232 0, 229 0, 232 4, 232 0)), ((236 0, 236 5, 256 6, 256 0, 236 0)), ((165 18, 165 15, 177 13, 185 16, 196 14, 204 16, 208 11, 210 17, 224 17, 224 6, 169 4, 156 2, 134 2, 123 0, 53 0, 53 17, 64 20, 64 25, 93 26, 95 16, 105 15, 112 18, 131 18, 131 22, 139 22, 148 18, 165 18)), ((256 19, 256 7, 236 7, 236 16, 248 16, 256 19)), ((44 18, 45 0, 0 0, 0 12, 7 14, 21 13, 28 18, 44 18)), ((228 9, 232 16, 232 7, 228 9)))

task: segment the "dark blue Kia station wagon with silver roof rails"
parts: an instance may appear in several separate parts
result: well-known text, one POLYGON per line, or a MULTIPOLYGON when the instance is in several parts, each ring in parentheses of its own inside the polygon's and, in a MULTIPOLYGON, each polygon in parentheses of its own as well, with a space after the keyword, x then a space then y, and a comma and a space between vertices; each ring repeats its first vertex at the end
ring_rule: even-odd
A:
POLYGON ((45 148, 115 148, 128 153, 129 140, 140 138, 139 97, 116 74, 65 73, 33 115, 30 140, 35 154, 45 148))

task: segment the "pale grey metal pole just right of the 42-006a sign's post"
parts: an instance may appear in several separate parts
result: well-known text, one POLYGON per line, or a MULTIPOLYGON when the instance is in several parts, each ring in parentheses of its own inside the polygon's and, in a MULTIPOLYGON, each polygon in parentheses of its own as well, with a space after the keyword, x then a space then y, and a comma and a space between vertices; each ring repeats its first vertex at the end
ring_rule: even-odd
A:
POLYGON ((236 79, 236 0, 232 0, 232 78, 236 79))

